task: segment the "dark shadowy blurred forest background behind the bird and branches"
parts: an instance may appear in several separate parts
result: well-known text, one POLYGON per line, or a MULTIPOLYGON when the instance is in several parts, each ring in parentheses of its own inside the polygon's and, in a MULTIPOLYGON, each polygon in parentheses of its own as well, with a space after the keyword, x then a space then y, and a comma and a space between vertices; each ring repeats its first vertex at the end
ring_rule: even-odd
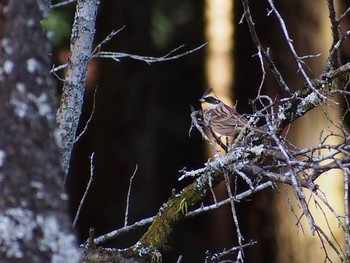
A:
MULTIPOLYGON (((303 85, 302 79, 297 77, 277 20, 267 15, 266 2, 251 3, 257 31, 263 46, 270 47, 277 67, 290 86, 298 89, 303 85)), ((331 41, 325 1, 294 0, 275 4, 287 22, 299 54, 323 54, 309 61, 310 72, 315 72, 316 76, 324 66, 331 41)), ((341 4, 338 2, 339 6, 341 4)), ((54 9, 47 21, 55 32, 53 57, 56 65, 66 62, 74 11, 74 4, 54 9)), ((77 223, 81 242, 88 237, 89 227, 94 227, 96 235, 101 235, 123 225, 129 180, 136 165, 130 223, 155 215, 171 196, 173 188, 178 191, 188 183, 178 182, 179 170, 203 166, 208 159, 204 142, 197 132, 189 137, 188 130, 190 105, 198 109, 198 99, 209 86, 216 89, 218 95, 237 101, 238 112, 252 112, 249 99, 256 97, 262 74, 247 25, 240 23, 242 15, 240 1, 101 1, 95 45, 112 30, 126 26, 103 46, 104 50, 163 56, 182 44, 185 45, 183 51, 205 42, 208 45, 178 60, 152 65, 131 59, 118 63, 96 59, 90 63, 79 132, 91 115, 93 94, 97 89, 95 113, 86 133, 75 145, 67 180, 73 218, 90 177, 89 157, 95 152, 94 181, 77 223), (219 4, 222 13, 210 16, 209 8, 213 2, 219 4), (212 44, 216 42, 210 39, 209 25, 211 19, 221 15, 227 15, 230 22, 228 27, 219 25, 216 28, 217 33, 226 35, 226 38, 217 40, 224 48, 215 51, 212 44), (223 68, 210 64, 209 59, 213 57, 222 58, 223 68), (214 72, 214 69, 217 70, 214 72)), ((349 57, 349 48, 343 52, 345 59, 349 57)), ((276 84, 269 77, 268 74, 263 92, 271 97, 278 96, 276 84)), ((57 81, 61 87, 62 82, 57 81)), ((311 132, 302 121, 299 127, 311 132)), ((302 143, 297 128, 292 127, 290 134, 295 143, 302 143)), ((304 136, 305 130, 302 134, 303 139, 309 140, 304 136)), ((314 135, 310 136, 313 138, 314 135)), ((220 189, 217 194, 218 197, 226 195, 220 189)), ((281 198, 277 191, 270 190, 237 204, 244 237, 258 241, 257 245, 246 250, 246 262, 282 262, 280 257, 284 257, 283 262, 306 262, 298 261, 296 254, 281 249, 281 240, 288 240, 284 242, 287 246, 292 242, 288 237, 283 239, 280 233, 281 206, 287 211, 284 214, 290 213, 283 199, 284 195, 281 198), (283 205, 275 200, 276 195, 282 199, 283 205)), ((292 217, 287 224, 295 232, 295 218, 292 217)), ((234 245, 233 227, 229 206, 186 220, 174 231, 163 261, 176 262, 178 256, 183 255, 184 262, 203 262, 207 250, 215 253, 234 245)), ((128 233, 108 245, 132 245, 145 230, 128 233)))

